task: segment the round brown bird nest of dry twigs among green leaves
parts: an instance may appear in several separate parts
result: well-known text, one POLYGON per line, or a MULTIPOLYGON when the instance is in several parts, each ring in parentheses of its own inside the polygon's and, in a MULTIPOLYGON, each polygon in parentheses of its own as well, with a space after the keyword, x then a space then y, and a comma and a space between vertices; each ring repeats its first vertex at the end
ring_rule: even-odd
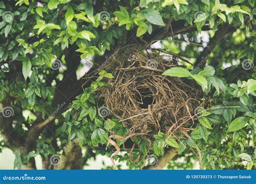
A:
POLYGON ((177 66, 177 60, 131 47, 113 56, 110 68, 114 69, 109 72, 114 77, 100 93, 131 135, 149 138, 158 131, 169 135, 191 128, 202 96, 200 87, 185 78, 161 75, 177 66))

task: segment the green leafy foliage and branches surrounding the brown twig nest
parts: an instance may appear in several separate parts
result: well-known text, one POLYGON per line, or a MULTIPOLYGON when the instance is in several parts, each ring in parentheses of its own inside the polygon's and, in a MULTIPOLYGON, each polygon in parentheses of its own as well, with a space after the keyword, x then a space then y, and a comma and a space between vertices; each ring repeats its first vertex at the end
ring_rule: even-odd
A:
MULTIPOLYGON (((0 102, 14 110, 13 116, 0 119, 4 137, 0 150, 9 147, 15 151, 16 168, 28 164, 37 154, 47 161, 76 138, 81 147, 96 150, 85 158, 107 155, 98 148, 108 145, 113 133, 125 137, 129 130, 119 119, 98 113, 102 102, 96 97, 97 89, 106 86, 106 78, 113 77, 104 70, 100 72, 102 58, 127 45, 130 39, 150 45, 149 40, 158 40, 157 36, 171 24, 171 30, 160 38, 161 49, 174 58, 178 55, 181 66, 163 75, 196 81, 205 94, 201 100, 209 104, 195 107, 197 112, 192 116, 197 119, 189 132, 192 139, 159 132, 150 145, 140 136, 131 136, 138 151, 114 159, 137 169, 150 153, 161 156, 172 147, 179 155, 168 167, 193 168, 190 160, 198 160, 198 146, 204 168, 255 168, 254 7, 255 0, 0 2, 0 102), (227 26, 231 33, 205 58, 198 59, 221 26, 227 26), (86 63, 93 60, 92 68, 98 76, 83 91, 78 89, 84 83, 83 77, 78 77, 85 66, 80 59, 86 63), (201 60, 199 65, 193 65, 197 60, 201 60), (206 60, 207 65, 199 69, 206 60), (34 132, 33 146, 24 144, 40 122, 45 124, 38 134, 34 132), (9 143, 6 133, 15 135, 11 139, 18 144, 9 143), (129 161, 138 157, 139 163, 129 161), (180 157, 185 158, 184 162, 176 163, 180 157)), ((117 145, 125 141, 117 140, 117 145)))

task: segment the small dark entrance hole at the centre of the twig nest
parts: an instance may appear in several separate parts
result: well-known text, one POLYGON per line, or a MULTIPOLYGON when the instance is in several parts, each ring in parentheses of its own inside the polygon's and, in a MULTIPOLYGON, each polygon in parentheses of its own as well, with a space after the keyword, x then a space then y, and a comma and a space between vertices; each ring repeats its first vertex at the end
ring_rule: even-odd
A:
POLYGON ((137 90, 136 101, 139 103, 139 108, 147 109, 149 105, 156 103, 156 98, 154 98, 149 88, 138 88, 137 90))

